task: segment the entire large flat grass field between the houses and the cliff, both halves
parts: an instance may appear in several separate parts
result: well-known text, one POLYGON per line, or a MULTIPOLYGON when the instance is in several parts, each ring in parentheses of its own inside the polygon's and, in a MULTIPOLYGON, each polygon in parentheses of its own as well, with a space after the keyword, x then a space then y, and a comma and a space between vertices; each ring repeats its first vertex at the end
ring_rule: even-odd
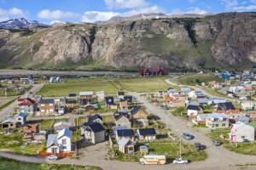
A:
POLYGON ((116 94, 118 87, 132 92, 157 92, 167 88, 177 88, 164 82, 169 77, 121 77, 113 79, 109 77, 65 79, 64 83, 46 84, 37 93, 44 97, 61 97, 68 94, 79 94, 83 91, 105 91, 105 94, 116 94))

